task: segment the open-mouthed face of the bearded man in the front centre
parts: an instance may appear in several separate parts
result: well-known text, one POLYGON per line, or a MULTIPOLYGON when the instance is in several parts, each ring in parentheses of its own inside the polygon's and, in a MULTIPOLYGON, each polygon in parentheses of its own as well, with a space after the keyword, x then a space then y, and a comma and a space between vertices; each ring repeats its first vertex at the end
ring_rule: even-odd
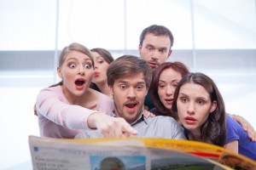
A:
POLYGON ((129 123, 137 121, 142 115, 144 99, 148 93, 143 73, 120 77, 110 89, 116 115, 129 123))

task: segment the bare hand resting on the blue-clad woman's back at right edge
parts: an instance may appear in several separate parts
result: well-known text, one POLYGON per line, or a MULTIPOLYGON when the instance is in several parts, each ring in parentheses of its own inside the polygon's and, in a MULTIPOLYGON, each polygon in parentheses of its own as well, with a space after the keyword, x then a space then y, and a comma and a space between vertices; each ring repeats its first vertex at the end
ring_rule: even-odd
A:
POLYGON ((232 119, 234 119, 236 122, 241 124, 241 127, 247 132, 249 139, 251 139, 253 142, 256 142, 256 132, 255 132, 253 126, 249 122, 247 122, 246 119, 244 119, 241 116, 237 116, 237 115, 229 114, 229 116, 232 119))

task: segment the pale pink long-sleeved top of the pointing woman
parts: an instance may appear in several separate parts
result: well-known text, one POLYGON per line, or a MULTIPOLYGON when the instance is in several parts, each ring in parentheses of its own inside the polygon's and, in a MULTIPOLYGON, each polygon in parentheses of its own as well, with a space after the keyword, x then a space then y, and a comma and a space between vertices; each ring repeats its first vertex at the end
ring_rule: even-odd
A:
MULTIPOLYGON (((97 93, 96 110, 111 116, 113 99, 97 93)), ((89 129, 87 118, 95 112, 79 105, 71 105, 63 94, 61 86, 41 90, 36 106, 40 135, 52 138, 73 139, 82 129, 89 129)))

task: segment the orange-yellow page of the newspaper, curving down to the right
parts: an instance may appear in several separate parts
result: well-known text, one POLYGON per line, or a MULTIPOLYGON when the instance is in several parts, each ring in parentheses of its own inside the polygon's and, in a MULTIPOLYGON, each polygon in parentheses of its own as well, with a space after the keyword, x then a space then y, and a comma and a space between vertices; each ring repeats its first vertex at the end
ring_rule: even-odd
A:
MULTIPOLYGON (((108 141, 119 139, 75 139, 76 142, 86 143, 106 143, 108 141)), ((195 156, 208 158, 212 161, 224 164, 235 169, 256 169, 256 162, 241 156, 223 147, 206 144, 196 141, 177 140, 177 139, 149 139, 149 138, 127 138, 129 140, 141 141, 147 147, 157 147, 166 150, 178 150, 195 156)), ((129 142, 126 142, 129 144, 129 142)))

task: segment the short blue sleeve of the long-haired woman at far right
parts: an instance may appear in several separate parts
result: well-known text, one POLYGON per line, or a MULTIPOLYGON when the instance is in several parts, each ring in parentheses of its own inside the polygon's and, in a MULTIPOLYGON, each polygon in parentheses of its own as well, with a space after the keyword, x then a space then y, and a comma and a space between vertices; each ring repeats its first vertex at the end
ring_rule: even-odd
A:
POLYGON ((226 116, 226 144, 234 140, 239 140, 239 127, 238 123, 235 122, 230 116, 226 116))

